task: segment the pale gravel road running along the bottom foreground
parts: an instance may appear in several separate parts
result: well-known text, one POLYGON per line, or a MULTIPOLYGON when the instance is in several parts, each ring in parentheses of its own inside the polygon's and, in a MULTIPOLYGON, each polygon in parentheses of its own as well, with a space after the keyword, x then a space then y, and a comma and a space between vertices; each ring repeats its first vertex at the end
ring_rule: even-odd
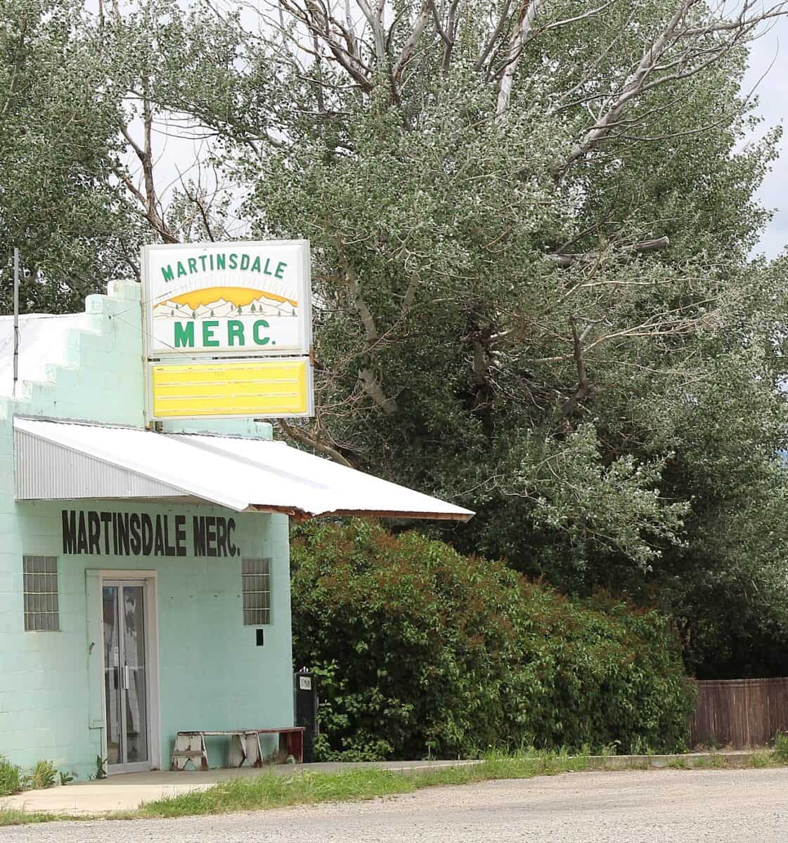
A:
POLYGON ((2 843, 785 843, 788 769, 575 773, 369 803, 0 829, 2 843))

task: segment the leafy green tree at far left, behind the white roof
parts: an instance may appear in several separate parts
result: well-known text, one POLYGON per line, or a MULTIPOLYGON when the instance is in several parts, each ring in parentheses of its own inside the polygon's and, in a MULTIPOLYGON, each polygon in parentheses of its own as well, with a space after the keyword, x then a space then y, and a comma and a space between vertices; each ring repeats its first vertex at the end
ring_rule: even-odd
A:
POLYGON ((118 190, 123 149, 111 78, 77 0, 0 3, 0 310, 19 249, 23 312, 78 309, 136 265, 143 235, 118 190))

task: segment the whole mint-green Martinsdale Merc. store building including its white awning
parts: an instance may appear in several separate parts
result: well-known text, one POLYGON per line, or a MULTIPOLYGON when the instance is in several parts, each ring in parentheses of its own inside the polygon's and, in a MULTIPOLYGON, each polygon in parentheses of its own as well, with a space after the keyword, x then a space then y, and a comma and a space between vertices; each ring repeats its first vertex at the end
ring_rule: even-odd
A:
POLYGON ((16 383, 0 317, 0 754, 80 779, 168 769, 178 731, 293 725, 290 517, 472 514, 265 422, 146 429, 139 298, 22 317, 16 383))

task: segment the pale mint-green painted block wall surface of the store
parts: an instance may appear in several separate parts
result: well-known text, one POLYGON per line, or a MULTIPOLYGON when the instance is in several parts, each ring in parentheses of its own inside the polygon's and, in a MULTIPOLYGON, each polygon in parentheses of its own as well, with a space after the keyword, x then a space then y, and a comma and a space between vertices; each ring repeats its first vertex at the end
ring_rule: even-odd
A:
MULTIPOLYGON (((291 724, 293 692, 285 516, 197 505, 14 502, 13 414, 143 426, 138 285, 116 283, 107 296, 89 296, 78 322, 67 334, 67 364, 48 369, 51 382, 24 384, 20 400, 0 398, 0 754, 26 769, 40 759, 54 760, 85 778, 95 770, 102 738, 101 728, 90 728, 91 716, 95 725, 102 713, 95 680, 100 664, 91 663, 101 658, 100 642, 90 652, 90 639, 100 629, 98 601, 86 594, 91 570, 158 572, 163 765, 180 729, 291 724), (265 627, 265 645, 256 647, 254 628, 243 626, 240 556, 63 556, 62 508, 234 517, 243 556, 272 559, 272 623, 265 627), (25 553, 58 556, 60 632, 24 631, 25 553)), ((269 425, 247 421, 168 422, 165 429, 272 435, 269 425)))

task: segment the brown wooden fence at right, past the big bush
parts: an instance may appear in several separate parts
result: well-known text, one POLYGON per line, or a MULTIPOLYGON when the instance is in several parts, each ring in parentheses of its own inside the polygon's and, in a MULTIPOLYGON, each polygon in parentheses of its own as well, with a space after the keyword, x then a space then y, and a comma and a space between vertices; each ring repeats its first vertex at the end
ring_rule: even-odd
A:
POLYGON ((693 746, 716 743, 743 749, 770 744, 778 731, 788 733, 788 678, 711 679, 696 685, 693 746))

